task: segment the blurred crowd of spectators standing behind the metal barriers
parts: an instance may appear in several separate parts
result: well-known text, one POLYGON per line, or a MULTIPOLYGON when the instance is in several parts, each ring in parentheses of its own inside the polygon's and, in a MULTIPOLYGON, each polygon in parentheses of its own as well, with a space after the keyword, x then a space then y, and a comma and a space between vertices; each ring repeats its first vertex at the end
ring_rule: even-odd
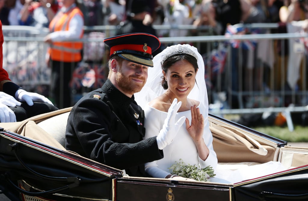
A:
MULTIPOLYGON (((53 16, 61 8, 63 1, 67 0, 0 0, 0 19, 3 25, 48 27, 53 16)), ((303 21, 301 25, 303 31, 306 31, 308 27, 308 3, 306 0, 76 0, 76 4, 83 13, 85 26, 114 25, 117 27, 116 30, 109 31, 108 35, 107 33, 91 34, 91 31, 85 30, 84 37, 86 38, 93 35, 95 37, 109 37, 132 32, 147 32, 157 37, 225 35, 230 31, 228 30, 229 25, 238 23, 279 23, 277 30, 280 33, 286 32, 286 24, 292 21, 303 21), (171 27, 195 25, 197 28, 193 30, 176 28, 155 30, 153 25, 170 25, 171 27)), ((252 32, 252 30, 248 32, 252 32)), ((258 33, 272 32, 259 30, 258 33)), ((281 80, 285 81, 287 89, 295 88, 298 80, 301 80, 301 77, 298 76, 300 73, 288 69, 290 68, 288 62, 294 64, 293 60, 297 58, 301 60, 302 56, 292 57, 288 60, 288 55, 281 55, 280 41, 277 41, 278 44, 273 44, 271 40, 258 41, 255 44, 250 44, 253 49, 249 49, 246 44, 246 48, 240 46, 242 47, 241 53, 239 53, 240 48, 233 44, 230 52, 232 55, 233 91, 239 90, 240 79, 242 79, 241 83, 247 83, 243 85, 242 90, 259 90, 262 86, 268 85, 270 76, 267 72, 270 72, 271 68, 278 71, 274 90, 280 90, 281 80), (275 55, 268 52, 270 49, 274 49, 275 55), (239 54, 244 55, 243 61, 240 63, 239 54), (282 63, 285 63, 285 69, 281 69, 282 63), (239 68, 240 65, 242 66, 239 68), (239 72, 239 69, 242 72, 239 72), (286 71, 286 77, 279 76, 281 70, 286 71), (262 72, 265 77, 257 77, 262 72), (253 82, 247 80, 250 79, 249 75, 255 75, 253 82), (292 82, 291 86, 290 82, 292 82)), ((198 47, 207 64, 209 64, 207 59, 212 56, 213 50, 224 51, 221 49, 221 42, 201 42, 192 45, 198 47)), ((284 45, 286 47, 284 53, 288 52, 287 45, 288 42, 284 45)), ((164 44, 161 48, 164 48, 164 44)), ((87 50, 91 50, 91 47, 87 46, 87 50)), ((156 53, 160 51, 158 50, 156 53)), ((86 55, 85 58, 89 58, 89 56, 86 55)), ((101 59, 101 57, 97 58, 101 59)), ((208 87, 209 90, 215 91, 217 90, 215 89, 217 80, 213 75, 216 74, 215 72, 211 73, 212 80, 209 81, 208 87)), ((239 107, 238 100, 232 102, 235 103, 232 107, 239 107)))

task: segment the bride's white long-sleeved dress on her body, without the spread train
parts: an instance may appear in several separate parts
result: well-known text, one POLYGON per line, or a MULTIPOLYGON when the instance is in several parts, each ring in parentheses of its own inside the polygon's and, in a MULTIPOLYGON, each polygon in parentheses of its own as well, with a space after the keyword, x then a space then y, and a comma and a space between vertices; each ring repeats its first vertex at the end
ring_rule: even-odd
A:
MULTIPOLYGON (((201 114, 207 113, 205 112, 205 107, 202 104, 198 107, 200 108, 201 114)), ((168 113, 159 111, 149 105, 145 106, 144 113, 144 127, 146 128, 144 139, 157 136, 164 125, 164 120, 166 119, 168 113)), ((175 122, 182 116, 186 116, 189 122, 191 121, 191 112, 188 110, 185 112, 178 112, 176 114, 175 122)), ((164 158, 145 164, 146 172, 153 177, 165 178, 170 174, 170 170, 168 168, 170 168, 176 161, 180 162, 180 159, 182 159, 186 164, 197 164, 201 168, 211 165, 213 169, 216 169, 217 157, 213 150, 213 136, 209 129, 209 121, 207 116, 204 116, 204 122, 205 128, 203 132, 203 139, 210 151, 209 156, 205 161, 198 156, 196 145, 194 144, 193 139, 189 136, 184 123, 172 143, 164 148, 164 158)))

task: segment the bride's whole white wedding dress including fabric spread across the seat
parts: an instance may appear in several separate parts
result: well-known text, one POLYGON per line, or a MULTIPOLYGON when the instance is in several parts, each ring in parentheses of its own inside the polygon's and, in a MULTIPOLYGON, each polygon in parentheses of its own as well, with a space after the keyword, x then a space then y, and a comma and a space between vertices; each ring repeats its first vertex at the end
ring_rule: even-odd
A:
MULTIPOLYGON (((203 105, 198 106, 200 112, 205 113, 203 105)), ((144 139, 157 136, 164 125, 164 120, 167 117, 167 112, 159 111, 155 108, 146 105, 144 108, 145 113, 145 128, 146 134, 144 139)), ((176 114, 177 121, 180 117, 186 116, 189 121, 191 120, 191 113, 189 111, 178 112, 176 114)), ((209 148, 210 153, 208 158, 204 161, 198 156, 197 148, 193 139, 189 136, 185 128, 185 123, 180 128, 175 139, 172 143, 164 148, 164 158, 145 164, 145 171, 156 178, 165 178, 170 174, 169 168, 176 161, 180 162, 182 159, 186 164, 197 164, 200 168, 205 168, 211 165, 215 170, 216 176, 209 179, 209 182, 216 183, 237 183, 247 179, 254 179, 264 175, 274 174, 286 170, 280 162, 270 161, 265 164, 244 165, 237 166, 238 169, 229 169, 230 165, 217 164, 216 152, 213 150, 213 136, 209 129, 208 117, 205 118, 205 128, 203 132, 203 139, 206 146, 209 148)))

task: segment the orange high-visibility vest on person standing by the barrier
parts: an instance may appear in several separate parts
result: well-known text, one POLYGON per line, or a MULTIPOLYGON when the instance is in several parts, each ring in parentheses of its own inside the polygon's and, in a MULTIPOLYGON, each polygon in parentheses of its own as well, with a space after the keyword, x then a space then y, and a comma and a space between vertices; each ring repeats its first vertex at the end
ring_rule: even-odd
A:
MULTIPOLYGON (((49 24, 49 30, 51 32, 55 31, 67 31, 68 25, 71 19, 76 15, 80 14, 83 17, 81 10, 77 7, 63 13, 59 11, 55 17, 51 20, 49 24)), ((83 37, 83 31, 79 38, 83 37)), ((50 58, 53 61, 63 61, 63 62, 74 62, 81 61, 81 49, 83 48, 82 42, 53 42, 48 50, 50 58)))

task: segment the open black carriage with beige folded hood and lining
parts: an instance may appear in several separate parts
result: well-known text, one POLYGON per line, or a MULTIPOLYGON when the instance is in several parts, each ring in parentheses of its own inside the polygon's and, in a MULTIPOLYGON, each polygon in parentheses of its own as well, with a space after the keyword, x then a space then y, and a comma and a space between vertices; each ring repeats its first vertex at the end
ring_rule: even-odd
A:
POLYGON ((0 124, 0 190, 11 200, 308 199, 306 148, 209 115, 221 168, 280 161, 287 170, 237 183, 130 177, 63 148, 69 111, 0 124))

